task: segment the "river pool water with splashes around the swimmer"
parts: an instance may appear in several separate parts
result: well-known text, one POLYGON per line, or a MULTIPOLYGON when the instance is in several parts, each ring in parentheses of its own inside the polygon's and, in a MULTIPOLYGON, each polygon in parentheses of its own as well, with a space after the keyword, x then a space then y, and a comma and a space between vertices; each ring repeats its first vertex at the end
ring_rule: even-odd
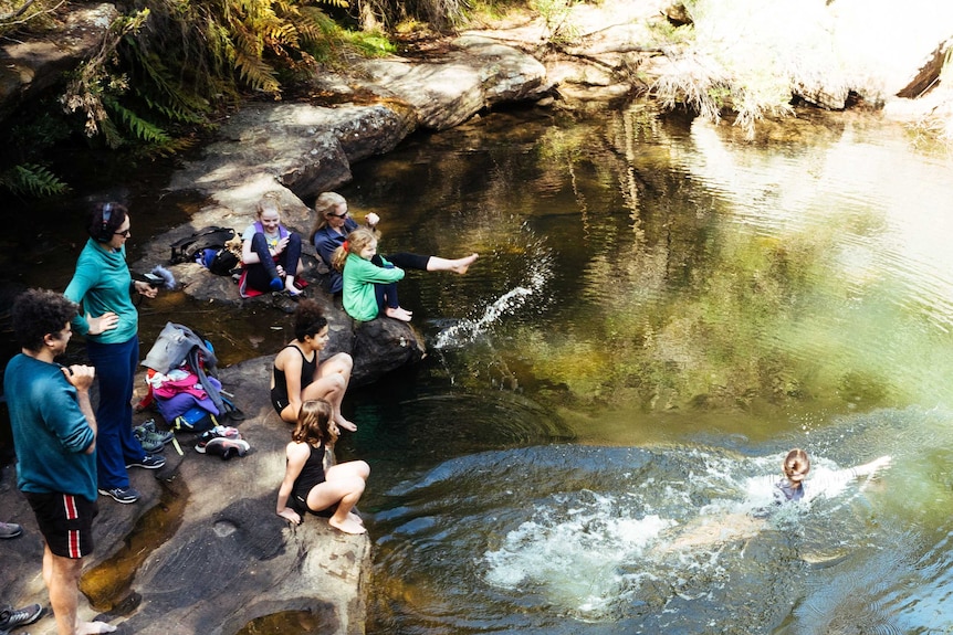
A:
POLYGON ((643 107, 357 166, 384 253, 481 254, 400 283, 429 356, 349 400, 368 632, 953 628, 951 177, 871 116, 748 144, 643 107), (794 446, 893 463, 751 522, 794 446))

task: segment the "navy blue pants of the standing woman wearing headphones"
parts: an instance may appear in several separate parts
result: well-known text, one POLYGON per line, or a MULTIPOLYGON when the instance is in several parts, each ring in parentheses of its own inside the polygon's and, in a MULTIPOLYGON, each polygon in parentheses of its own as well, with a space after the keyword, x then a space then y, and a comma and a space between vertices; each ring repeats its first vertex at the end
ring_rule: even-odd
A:
POLYGON ((100 404, 96 406, 98 487, 128 487, 126 464, 146 456, 146 451, 133 434, 133 380, 139 363, 139 338, 134 336, 122 343, 87 340, 86 353, 100 381, 100 404))

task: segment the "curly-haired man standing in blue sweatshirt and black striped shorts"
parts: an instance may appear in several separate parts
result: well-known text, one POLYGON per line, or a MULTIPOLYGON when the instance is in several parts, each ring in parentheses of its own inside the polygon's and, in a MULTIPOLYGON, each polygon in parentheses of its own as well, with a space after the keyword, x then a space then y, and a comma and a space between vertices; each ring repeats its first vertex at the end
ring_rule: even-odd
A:
POLYGON ((17 449, 17 485, 33 508, 46 546, 43 581, 59 635, 109 633, 81 622, 83 558, 93 551, 96 508, 96 417, 90 403, 95 371, 54 360, 66 350, 77 306, 60 294, 30 289, 13 304, 22 347, 7 364, 3 392, 17 449))

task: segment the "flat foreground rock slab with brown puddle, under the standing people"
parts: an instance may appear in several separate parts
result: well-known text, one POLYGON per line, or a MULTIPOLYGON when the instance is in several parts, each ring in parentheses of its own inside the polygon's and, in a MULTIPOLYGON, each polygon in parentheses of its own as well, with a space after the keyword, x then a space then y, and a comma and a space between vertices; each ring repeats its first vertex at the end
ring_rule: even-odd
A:
MULTIPOLYGON (((364 633, 367 536, 344 535, 314 516, 291 527, 274 512, 291 426, 269 405, 271 361, 259 358, 221 372, 247 415, 231 422, 252 446, 247 456, 226 462, 199 454, 195 435, 181 434, 184 456, 169 444, 164 468, 130 470, 144 495, 139 502, 100 498, 84 591, 104 594, 97 602, 118 633, 230 635, 289 611, 310 614, 321 633, 364 633), (115 579, 130 561, 137 563, 135 576, 124 588, 115 579)), ((11 487, 12 472, 4 470, 0 508, 25 535, 0 541, 0 584, 7 601, 49 608, 40 576, 42 541, 32 511, 11 487)), ((85 601, 81 607, 83 618, 96 613, 85 601)), ((49 612, 30 632, 55 633, 49 612)))

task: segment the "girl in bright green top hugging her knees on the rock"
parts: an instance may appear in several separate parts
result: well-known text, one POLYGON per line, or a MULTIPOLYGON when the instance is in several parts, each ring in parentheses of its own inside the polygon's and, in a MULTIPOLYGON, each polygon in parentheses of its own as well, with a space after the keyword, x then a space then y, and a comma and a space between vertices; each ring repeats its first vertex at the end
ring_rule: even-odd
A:
POLYGON ((335 250, 332 264, 343 276, 344 310, 358 321, 370 321, 381 311, 387 317, 410 321, 412 314, 397 301, 397 281, 404 278, 404 269, 383 257, 378 266, 370 262, 375 255, 377 235, 367 227, 347 234, 344 244, 335 250))

